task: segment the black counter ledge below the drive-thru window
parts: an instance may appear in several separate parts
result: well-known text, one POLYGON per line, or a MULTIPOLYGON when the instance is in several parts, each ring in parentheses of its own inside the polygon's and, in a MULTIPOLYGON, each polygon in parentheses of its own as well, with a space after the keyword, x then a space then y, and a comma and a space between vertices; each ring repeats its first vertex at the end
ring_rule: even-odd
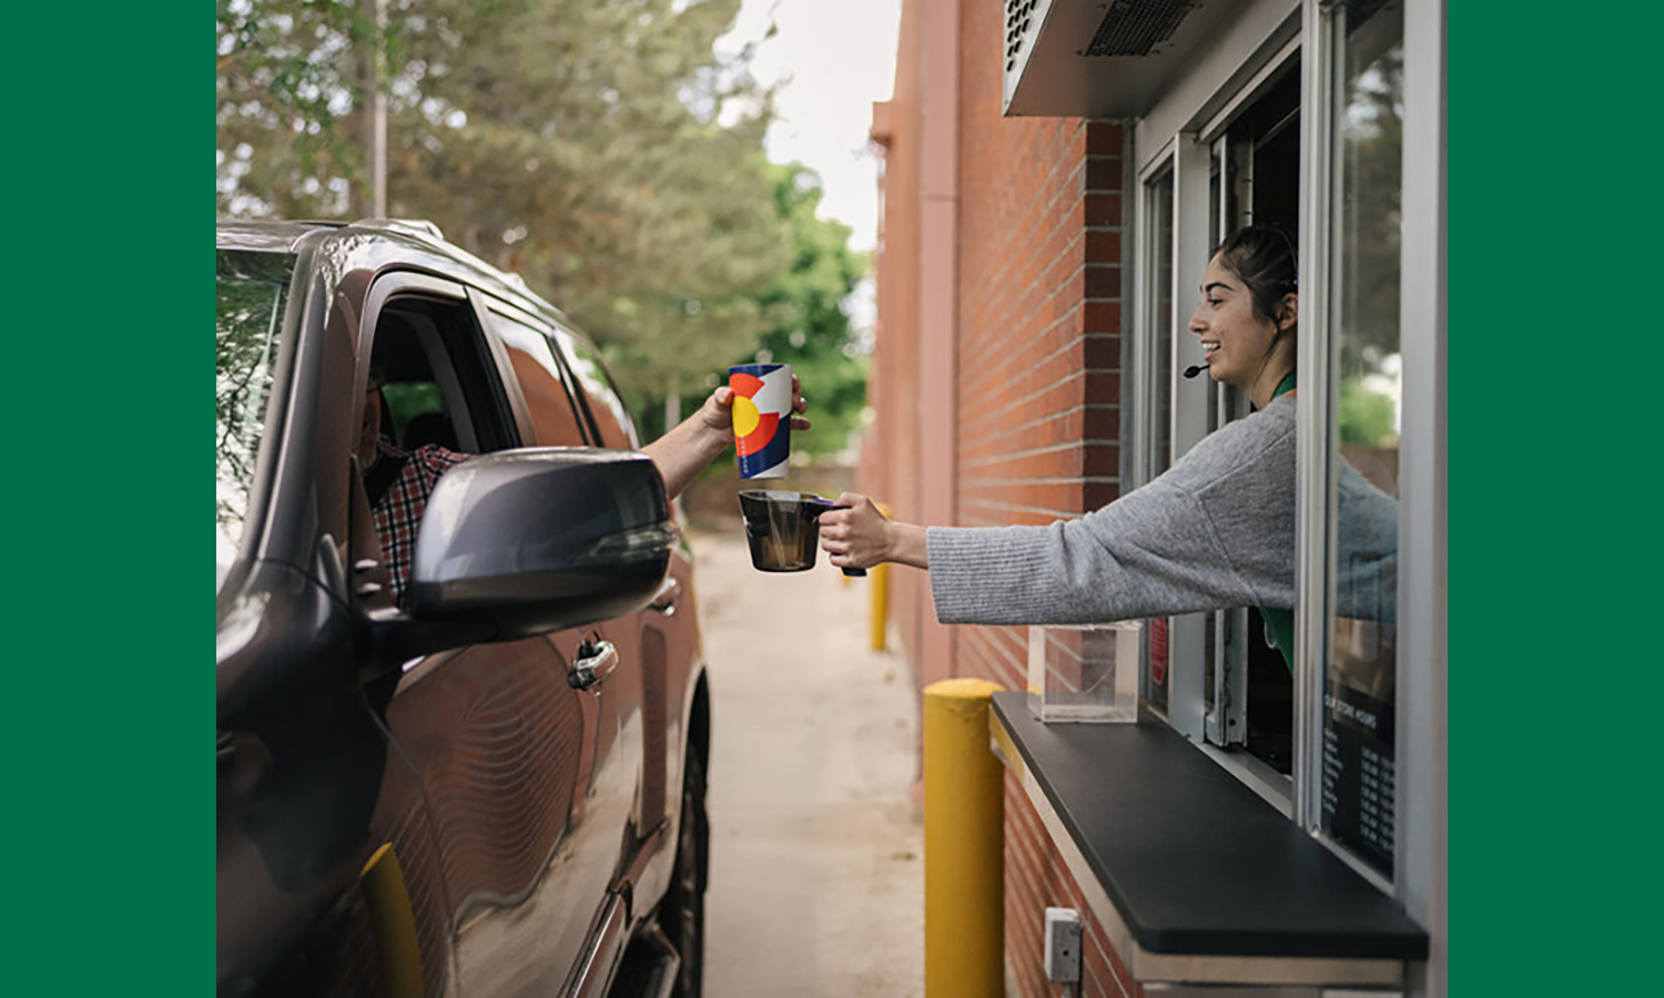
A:
POLYGON ((1178 732, 1045 725, 1022 692, 995 694, 990 720, 1022 757, 1030 797, 1072 840, 1058 845, 1078 852, 1151 966, 1426 958, 1426 931, 1393 898, 1178 732))

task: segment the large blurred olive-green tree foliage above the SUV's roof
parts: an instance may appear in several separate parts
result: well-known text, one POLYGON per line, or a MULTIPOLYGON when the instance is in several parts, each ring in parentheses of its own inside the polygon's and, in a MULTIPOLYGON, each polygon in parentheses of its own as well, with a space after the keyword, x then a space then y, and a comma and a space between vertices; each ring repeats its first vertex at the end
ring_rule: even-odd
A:
POLYGON ((218 208, 361 213, 364 93, 388 211, 562 306, 632 396, 702 393, 770 329, 789 231, 772 93, 712 43, 739 0, 221 0, 218 208), (368 53, 368 55, 366 55, 368 53), (368 67, 381 67, 371 73, 368 67))

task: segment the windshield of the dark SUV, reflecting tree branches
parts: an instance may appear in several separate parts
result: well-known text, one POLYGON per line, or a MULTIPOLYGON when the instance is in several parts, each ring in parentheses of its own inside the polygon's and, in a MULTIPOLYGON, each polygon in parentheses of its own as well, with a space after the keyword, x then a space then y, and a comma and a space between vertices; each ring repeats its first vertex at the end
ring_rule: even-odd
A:
POLYGON ((243 547, 255 457, 271 394, 278 329, 290 294, 295 256, 288 253, 218 251, 215 329, 215 589, 243 547))

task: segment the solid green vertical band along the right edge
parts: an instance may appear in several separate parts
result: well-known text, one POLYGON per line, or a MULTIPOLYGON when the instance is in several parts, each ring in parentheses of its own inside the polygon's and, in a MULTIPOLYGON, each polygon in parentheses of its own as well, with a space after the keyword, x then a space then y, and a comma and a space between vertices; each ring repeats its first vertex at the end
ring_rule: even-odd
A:
POLYGON ((1449 5, 1454 995, 1657 990, 1656 5, 1449 5))

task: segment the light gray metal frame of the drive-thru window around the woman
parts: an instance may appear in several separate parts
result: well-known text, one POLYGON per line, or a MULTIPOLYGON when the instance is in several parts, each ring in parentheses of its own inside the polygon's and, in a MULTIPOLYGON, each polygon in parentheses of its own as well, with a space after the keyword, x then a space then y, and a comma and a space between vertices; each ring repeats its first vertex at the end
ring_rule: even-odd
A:
MULTIPOLYGON (((1148 115, 1133 123, 1132 155, 1138 196, 1133 211, 1133 266, 1142 276, 1133 296, 1132 432, 1138 482, 1153 467, 1148 432, 1153 386, 1155 323, 1148 183, 1173 170, 1173 321, 1183 321, 1186 288, 1200 281, 1196 246, 1206 243, 1208 151, 1246 106, 1270 73, 1293 53, 1301 58, 1301 233, 1300 288, 1301 384, 1298 396, 1300 494, 1296 552, 1300 605, 1296 607, 1298 659, 1295 664, 1295 777, 1286 787, 1265 773, 1233 765, 1235 753, 1205 745, 1200 669, 1185 675, 1181 634, 1170 635, 1170 724, 1211 757, 1231 768, 1248 787, 1280 807, 1305 830, 1359 870, 1383 892, 1404 903, 1423 923, 1443 918, 1444 897, 1444 665, 1446 665, 1446 32, 1444 0, 1404 3, 1404 168, 1401 258, 1401 349, 1404 414, 1399 441, 1399 642, 1398 730, 1394 802, 1394 875, 1388 882, 1373 868, 1328 842, 1318 830, 1321 815, 1321 710, 1323 665, 1331 647, 1333 577, 1328 552, 1333 527, 1328 502, 1333 494, 1335 394, 1330 353, 1331 274, 1325 263, 1333 246, 1333 105, 1345 95, 1336 58, 1343 38, 1335 37, 1335 0, 1255 0, 1198 53, 1190 72, 1175 80, 1148 115), (1188 155, 1186 155, 1188 153, 1188 155), (1200 163, 1200 183, 1193 166, 1200 163), (1186 180, 1188 178, 1188 180, 1186 180), (1200 198, 1201 210, 1195 205, 1200 198), (1188 206, 1188 211, 1186 211, 1188 206), (1201 236, 1188 231, 1200 221, 1201 236), (1190 259, 1186 261, 1186 253, 1190 259), (1321 391, 1320 391, 1321 389, 1321 391), (1436 910, 1434 910, 1436 908, 1436 910)), ((1203 261, 1205 263, 1205 261, 1203 261)), ((1178 373, 1188 364, 1183 338, 1175 336, 1175 401, 1181 396, 1178 373)), ((1191 386, 1195 388, 1195 386, 1191 386)), ((1180 408, 1180 406, 1175 406, 1180 408)), ((1175 424, 1173 447, 1183 452, 1193 439, 1188 426, 1175 424), (1181 432, 1183 431, 1183 432, 1181 432)), ((1198 645, 1200 647, 1200 645, 1198 645)), ((1193 665, 1200 664, 1200 654, 1193 665)))

